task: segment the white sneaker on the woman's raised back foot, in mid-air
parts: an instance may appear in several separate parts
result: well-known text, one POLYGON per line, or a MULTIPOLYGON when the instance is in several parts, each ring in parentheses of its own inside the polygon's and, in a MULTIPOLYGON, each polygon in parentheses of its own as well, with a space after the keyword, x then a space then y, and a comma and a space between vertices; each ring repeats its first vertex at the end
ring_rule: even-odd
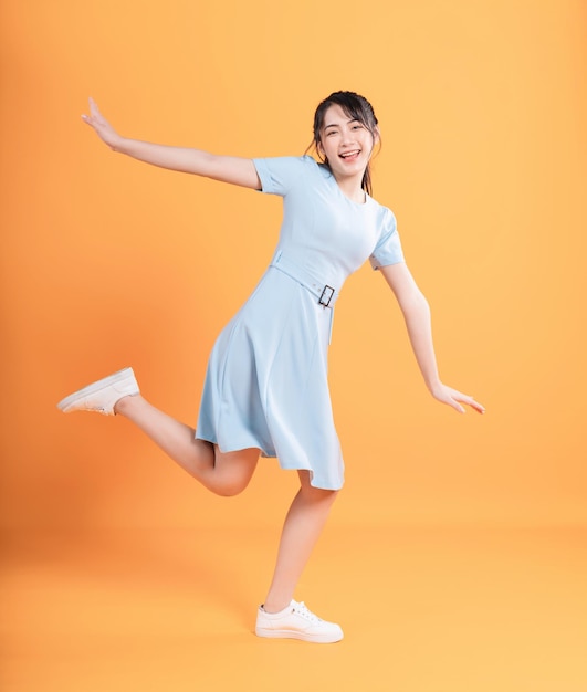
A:
POLYGON ((116 401, 137 394, 139 389, 133 368, 124 368, 65 397, 57 403, 57 408, 64 413, 96 411, 104 416, 114 416, 116 401))

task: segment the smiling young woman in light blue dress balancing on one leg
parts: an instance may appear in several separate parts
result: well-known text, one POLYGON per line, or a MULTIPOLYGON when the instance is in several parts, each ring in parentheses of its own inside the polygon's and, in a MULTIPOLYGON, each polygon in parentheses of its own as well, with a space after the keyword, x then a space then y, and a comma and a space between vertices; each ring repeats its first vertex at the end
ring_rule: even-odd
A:
POLYGON ((310 156, 247 159, 128 139, 90 102, 83 119, 114 151, 283 197, 273 260, 220 334, 210 356, 196 430, 146 401, 126 368, 69 396, 65 412, 127 418, 200 483, 220 495, 247 487, 260 455, 295 469, 290 507, 255 632, 313 642, 343 638, 340 627, 293 600, 294 590, 343 485, 343 458, 327 385, 333 308, 345 279, 367 259, 396 295, 426 386, 439 401, 483 412, 439 378, 428 303, 401 252, 396 220, 371 197, 369 160, 379 140, 371 105, 335 92, 317 107, 310 156))

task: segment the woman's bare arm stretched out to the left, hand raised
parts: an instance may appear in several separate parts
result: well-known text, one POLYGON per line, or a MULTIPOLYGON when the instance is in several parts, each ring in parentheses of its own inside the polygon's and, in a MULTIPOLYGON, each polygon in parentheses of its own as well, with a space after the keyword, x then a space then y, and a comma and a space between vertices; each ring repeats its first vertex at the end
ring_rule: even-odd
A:
POLYGON ((99 112, 95 102, 90 99, 90 115, 83 115, 84 123, 94 128, 97 136, 114 151, 119 151, 170 170, 189 172, 196 176, 231 182, 254 190, 261 189, 261 181, 254 164, 249 158, 217 156, 185 147, 169 147, 149 141, 139 141, 120 136, 99 112))

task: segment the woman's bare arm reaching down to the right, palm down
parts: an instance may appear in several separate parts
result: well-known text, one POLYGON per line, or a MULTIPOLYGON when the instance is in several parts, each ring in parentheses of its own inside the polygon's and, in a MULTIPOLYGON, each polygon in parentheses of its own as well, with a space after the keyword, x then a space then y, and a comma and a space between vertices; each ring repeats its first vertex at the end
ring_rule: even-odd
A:
POLYGON ((431 395, 442 403, 452 406, 460 413, 464 413, 461 403, 467 403, 479 413, 484 413, 485 409, 473 397, 447 387, 440 380, 432 342, 430 307, 408 266, 401 262, 382 266, 380 271, 399 303, 416 360, 431 395))

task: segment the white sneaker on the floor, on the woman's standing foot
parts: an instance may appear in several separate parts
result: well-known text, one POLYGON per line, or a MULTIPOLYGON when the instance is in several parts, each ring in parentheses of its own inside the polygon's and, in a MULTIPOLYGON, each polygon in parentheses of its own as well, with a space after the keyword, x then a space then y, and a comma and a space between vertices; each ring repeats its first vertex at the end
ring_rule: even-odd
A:
POLYGON ((324 644, 340 641, 344 637, 338 625, 321 620, 303 602, 295 600, 280 612, 266 612, 260 606, 254 631, 258 637, 302 639, 324 644))

